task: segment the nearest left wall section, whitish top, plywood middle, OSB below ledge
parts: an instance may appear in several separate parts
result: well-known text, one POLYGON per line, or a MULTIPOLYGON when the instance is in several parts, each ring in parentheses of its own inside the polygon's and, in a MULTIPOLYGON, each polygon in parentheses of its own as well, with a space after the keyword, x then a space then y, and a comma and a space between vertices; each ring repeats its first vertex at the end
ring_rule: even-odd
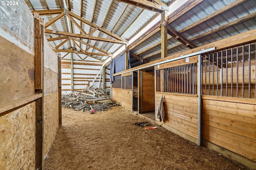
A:
POLYGON ((24 1, 0 13, 0 169, 34 169, 34 17, 24 1))

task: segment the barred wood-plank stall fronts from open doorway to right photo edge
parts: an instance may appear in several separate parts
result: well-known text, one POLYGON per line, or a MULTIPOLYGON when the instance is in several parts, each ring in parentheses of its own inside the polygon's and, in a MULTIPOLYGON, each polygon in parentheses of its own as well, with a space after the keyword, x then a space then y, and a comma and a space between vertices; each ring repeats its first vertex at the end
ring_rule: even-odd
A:
POLYGON ((156 113, 165 100, 165 117, 156 123, 254 166, 255 49, 254 40, 155 66, 156 113))

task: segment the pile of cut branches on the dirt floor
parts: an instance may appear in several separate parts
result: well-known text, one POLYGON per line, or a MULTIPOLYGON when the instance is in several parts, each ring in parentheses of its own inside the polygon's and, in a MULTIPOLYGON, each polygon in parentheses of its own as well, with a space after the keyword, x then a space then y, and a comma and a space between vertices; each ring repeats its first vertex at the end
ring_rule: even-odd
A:
POLYGON ((83 91, 73 90, 73 93, 62 96, 62 107, 74 108, 75 110, 105 111, 112 106, 118 106, 110 100, 110 90, 102 88, 86 88, 83 91))

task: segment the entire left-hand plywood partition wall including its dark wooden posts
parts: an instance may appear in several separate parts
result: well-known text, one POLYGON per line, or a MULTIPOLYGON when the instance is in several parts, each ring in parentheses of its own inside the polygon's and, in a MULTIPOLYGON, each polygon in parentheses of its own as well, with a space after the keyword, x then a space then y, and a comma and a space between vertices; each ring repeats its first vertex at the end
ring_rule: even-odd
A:
POLYGON ((24 1, 1 9, 0 169, 40 169, 61 124, 60 57, 24 1))

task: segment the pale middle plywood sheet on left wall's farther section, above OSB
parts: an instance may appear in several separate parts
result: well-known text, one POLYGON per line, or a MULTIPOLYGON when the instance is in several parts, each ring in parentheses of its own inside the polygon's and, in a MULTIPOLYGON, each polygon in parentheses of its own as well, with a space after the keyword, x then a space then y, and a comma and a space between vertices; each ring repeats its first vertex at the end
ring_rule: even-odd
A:
POLYGON ((44 66, 44 95, 58 92, 58 72, 44 66))

